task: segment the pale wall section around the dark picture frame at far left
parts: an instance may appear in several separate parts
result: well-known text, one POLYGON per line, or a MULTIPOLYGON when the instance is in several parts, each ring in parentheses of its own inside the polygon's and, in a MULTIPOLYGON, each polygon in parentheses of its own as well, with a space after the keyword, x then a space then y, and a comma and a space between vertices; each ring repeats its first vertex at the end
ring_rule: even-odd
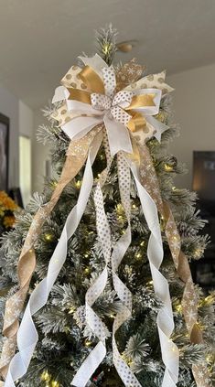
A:
POLYGON ((0 113, 10 119, 9 133, 9 188, 18 187, 18 99, 0 86, 0 113))

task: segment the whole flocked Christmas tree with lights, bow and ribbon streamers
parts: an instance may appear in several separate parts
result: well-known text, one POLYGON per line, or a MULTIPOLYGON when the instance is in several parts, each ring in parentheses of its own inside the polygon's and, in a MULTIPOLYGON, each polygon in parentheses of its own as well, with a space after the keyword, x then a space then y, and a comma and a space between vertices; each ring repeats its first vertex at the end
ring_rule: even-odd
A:
POLYGON ((113 27, 97 44, 38 131, 56 178, 2 239, 2 385, 208 387, 215 296, 188 262, 209 238, 196 194, 173 182, 172 88, 165 71, 113 65, 113 27))

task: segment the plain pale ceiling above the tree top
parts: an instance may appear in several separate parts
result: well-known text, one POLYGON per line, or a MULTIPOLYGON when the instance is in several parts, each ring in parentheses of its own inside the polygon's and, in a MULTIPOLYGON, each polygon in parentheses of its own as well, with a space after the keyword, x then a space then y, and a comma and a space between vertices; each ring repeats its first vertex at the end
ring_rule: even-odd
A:
POLYGON ((215 62, 214 0, 0 0, 0 83, 33 109, 48 102, 94 30, 113 23, 148 71, 215 62))

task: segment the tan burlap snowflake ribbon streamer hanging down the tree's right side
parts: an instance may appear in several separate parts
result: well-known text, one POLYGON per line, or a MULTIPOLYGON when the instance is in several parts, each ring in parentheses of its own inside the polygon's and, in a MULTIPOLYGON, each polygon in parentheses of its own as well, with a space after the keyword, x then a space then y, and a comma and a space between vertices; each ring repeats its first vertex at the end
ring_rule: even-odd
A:
MULTIPOLYGON (((164 224, 166 224, 165 232, 167 242, 177 269, 177 274, 185 284, 181 306, 188 328, 188 335, 191 343, 200 344, 203 343, 203 338, 202 332, 198 326, 198 298, 193 284, 188 258, 181 251, 180 236, 170 206, 167 202, 163 202, 161 198, 156 170, 146 145, 140 146, 139 154, 141 158, 140 174, 142 183, 155 200, 157 209, 165 220, 164 224), (145 165, 147 166, 147 169, 145 169, 145 165)), ((198 387, 211 387, 206 363, 193 365, 192 371, 198 387)))

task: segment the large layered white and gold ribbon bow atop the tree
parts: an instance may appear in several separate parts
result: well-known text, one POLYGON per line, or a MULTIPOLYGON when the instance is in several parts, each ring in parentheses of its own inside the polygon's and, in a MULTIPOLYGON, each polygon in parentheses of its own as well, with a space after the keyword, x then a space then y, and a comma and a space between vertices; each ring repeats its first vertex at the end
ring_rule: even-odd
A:
POLYGON ((104 123, 111 150, 114 156, 123 150, 133 153, 131 137, 142 139, 144 132, 154 134, 160 140, 165 124, 156 120, 159 112, 161 90, 133 90, 127 86, 116 90, 116 77, 113 66, 108 67, 101 57, 83 58, 85 67, 77 74, 80 88, 59 86, 52 102, 65 100, 70 119, 61 125, 70 139, 79 139, 96 124, 104 123))

